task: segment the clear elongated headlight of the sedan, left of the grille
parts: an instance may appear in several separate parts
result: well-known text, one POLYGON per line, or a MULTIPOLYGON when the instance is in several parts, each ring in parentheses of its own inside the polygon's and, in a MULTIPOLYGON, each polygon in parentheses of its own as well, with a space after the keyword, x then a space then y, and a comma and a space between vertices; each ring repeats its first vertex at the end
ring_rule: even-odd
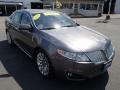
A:
POLYGON ((84 54, 84 53, 71 53, 71 52, 66 52, 63 50, 58 49, 57 50, 58 54, 68 58, 68 59, 72 59, 75 61, 81 61, 81 62, 88 62, 90 61, 89 58, 84 54))

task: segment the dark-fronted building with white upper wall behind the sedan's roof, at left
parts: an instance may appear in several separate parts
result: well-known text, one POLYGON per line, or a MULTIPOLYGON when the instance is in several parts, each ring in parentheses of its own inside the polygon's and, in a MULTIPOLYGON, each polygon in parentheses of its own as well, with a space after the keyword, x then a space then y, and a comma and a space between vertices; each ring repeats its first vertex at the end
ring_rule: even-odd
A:
POLYGON ((0 15, 10 15, 13 11, 21 8, 43 8, 40 0, 0 0, 0 15))

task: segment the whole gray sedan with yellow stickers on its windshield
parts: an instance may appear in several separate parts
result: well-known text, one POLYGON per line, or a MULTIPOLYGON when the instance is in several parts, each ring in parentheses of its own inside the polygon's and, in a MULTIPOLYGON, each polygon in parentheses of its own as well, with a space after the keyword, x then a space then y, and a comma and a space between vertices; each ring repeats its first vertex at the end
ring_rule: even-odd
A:
POLYGON ((58 73, 70 80, 95 77, 111 66, 115 55, 106 36, 61 12, 18 10, 5 25, 8 43, 35 60, 41 75, 47 78, 58 73))

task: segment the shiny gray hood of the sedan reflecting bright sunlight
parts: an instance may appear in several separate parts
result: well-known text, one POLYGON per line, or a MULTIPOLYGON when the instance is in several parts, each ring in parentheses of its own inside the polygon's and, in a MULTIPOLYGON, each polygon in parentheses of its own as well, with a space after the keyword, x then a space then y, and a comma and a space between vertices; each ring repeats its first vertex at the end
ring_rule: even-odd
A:
POLYGON ((85 26, 42 30, 45 38, 54 45, 71 52, 104 50, 110 40, 85 26))

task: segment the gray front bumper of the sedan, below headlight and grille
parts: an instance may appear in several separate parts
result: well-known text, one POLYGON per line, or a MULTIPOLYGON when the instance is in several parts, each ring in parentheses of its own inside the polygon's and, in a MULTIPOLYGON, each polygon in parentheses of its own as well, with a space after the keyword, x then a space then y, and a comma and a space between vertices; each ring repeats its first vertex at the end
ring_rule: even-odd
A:
POLYGON ((56 53, 50 59, 57 75, 62 73, 69 80, 83 80, 104 73, 111 66, 114 56, 115 51, 109 60, 103 62, 77 62, 56 53))

